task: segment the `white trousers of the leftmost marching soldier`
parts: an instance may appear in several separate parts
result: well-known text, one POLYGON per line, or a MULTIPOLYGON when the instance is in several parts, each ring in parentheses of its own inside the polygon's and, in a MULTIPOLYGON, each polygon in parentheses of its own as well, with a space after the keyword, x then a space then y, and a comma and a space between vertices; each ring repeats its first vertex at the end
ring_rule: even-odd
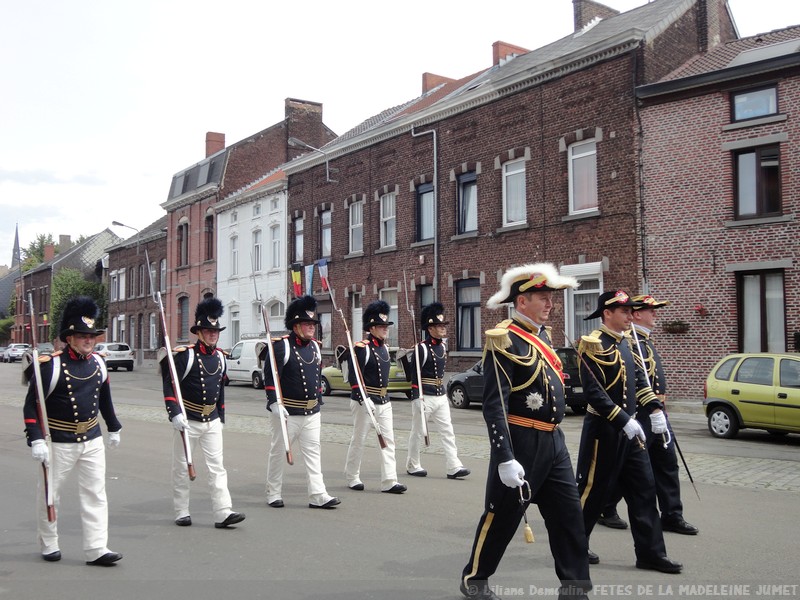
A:
MULTIPOLYGON (((108 547, 108 502, 106 500, 106 449, 102 436, 77 444, 53 443, 50 455, 50 478, 53 486, 53 504, 58 517, 58 499, 61 484, 74 470, 78 472, 78 499, 83 525, 83 551, 87 561, 97 560, 108 547)), ((38 465, 38 463, 37 463, 38 465)), ((39 467, 41 472, 41 467, 39 467)), ((58 547, 58 521, 47 520, 43 477, 39 477, 36 494, 39 543, 42 554, 50 554, 58 547)))

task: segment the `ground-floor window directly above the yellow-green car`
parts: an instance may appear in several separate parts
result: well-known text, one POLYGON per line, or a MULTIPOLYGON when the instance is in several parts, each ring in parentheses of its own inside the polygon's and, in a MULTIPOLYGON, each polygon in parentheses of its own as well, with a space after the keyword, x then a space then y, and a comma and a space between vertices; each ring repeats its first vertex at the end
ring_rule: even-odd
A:
POLYGON ((786 352, 783 271, 739 273, 741 352, 786 352))

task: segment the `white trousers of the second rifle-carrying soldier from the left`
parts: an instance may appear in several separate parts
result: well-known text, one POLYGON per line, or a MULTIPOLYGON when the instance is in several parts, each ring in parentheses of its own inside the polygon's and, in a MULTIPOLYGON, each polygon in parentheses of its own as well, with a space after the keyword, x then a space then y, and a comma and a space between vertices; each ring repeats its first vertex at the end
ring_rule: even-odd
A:
MULTIPOLYGON (((228 472, 222 464, 222 423, 219 419, 189 421, 186 428, 192 464, 197 465, 197 446, 203 451, 211 492, 214 521, 221 523, 231 514, 231 495, 228 492, 228 472)), ((189 516, 189 471, 183 449, 183 436, 175 432, 172 445, 172 504, 175 518, 189 516)))

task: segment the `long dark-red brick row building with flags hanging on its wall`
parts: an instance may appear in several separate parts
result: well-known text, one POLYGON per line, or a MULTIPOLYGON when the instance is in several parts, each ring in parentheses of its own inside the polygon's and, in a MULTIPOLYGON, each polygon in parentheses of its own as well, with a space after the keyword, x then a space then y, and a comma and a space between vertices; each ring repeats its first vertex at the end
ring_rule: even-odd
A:
POLYGON ((354 335, 361 307, 382 298, 390 344, 408 347, 406 292, 417 315, 438 299, 455 370, 505 318, 484 305, 511 265, 551 261, 581 280, 551 313, 558 345, 597 324, 583 317, 601 290, 642 285, 635 87, 735 39, 735 26, 723 0, 573 5, 574 34, 533 51, 497 42, 492 65, 462 79, 425 74, 420 97, 284 166, 290 253, 299 237, 298 260, 329 262, 354 335))

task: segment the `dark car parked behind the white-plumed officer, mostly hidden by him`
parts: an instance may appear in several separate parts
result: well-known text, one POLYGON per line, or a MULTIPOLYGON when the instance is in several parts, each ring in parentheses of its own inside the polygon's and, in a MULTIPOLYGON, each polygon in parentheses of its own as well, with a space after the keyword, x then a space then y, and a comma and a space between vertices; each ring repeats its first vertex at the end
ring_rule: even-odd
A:
MULTIPOLYGON (((576 415, 586 412, 578 369, 578 353, 573 348, 556 348, 564 368, 564 399, 576 415)), ((467 408, 471 402, 483 402, 483 365, 480 361, 447 382, 447 397, 453 408, 467 408)))

